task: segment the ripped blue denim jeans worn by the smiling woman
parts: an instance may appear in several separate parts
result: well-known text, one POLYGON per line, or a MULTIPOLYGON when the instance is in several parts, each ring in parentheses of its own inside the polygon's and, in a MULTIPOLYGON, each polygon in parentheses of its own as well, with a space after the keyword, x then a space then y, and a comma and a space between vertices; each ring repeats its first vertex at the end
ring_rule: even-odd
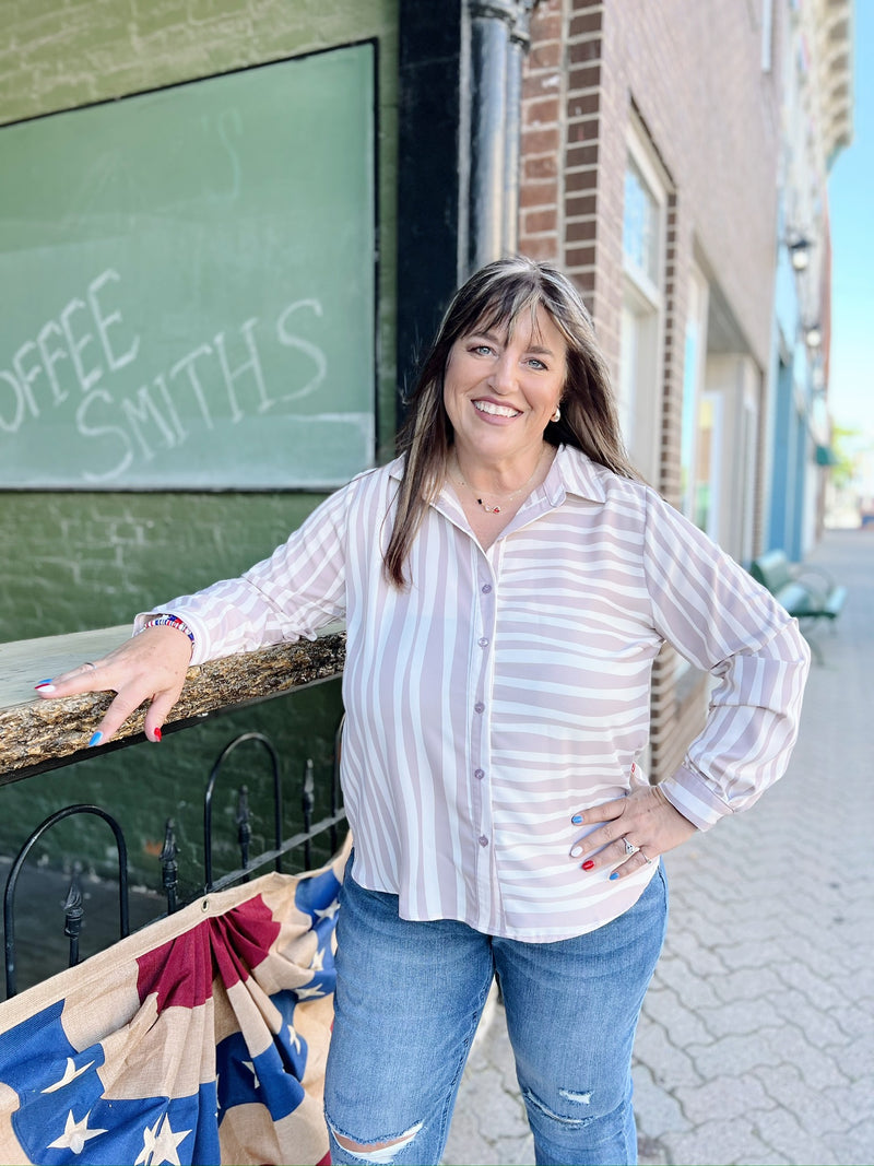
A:
POLYGON ((400 919, 396 895, 364 890, 347 869, 325 1079, 331 1161, 439 1163, 496 972, 537 1163, 636 1163, 632 1046, 667 890, 660 869, 598 930, 522 943, 454 920, 400 919), (344 1149, 336 1135, 367 1149, 344 1149))

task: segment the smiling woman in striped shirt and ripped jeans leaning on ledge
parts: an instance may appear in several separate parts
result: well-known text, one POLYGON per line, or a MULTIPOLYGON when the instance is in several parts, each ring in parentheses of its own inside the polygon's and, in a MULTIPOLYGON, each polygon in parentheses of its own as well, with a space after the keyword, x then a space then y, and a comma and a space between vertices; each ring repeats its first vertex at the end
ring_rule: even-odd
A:
POLYGON ((784 771, 809 653, 770 596, 634 475, 591 321, 524 259, 457 294, 397 461, 240 580, 140 616, 43 688, 114 689, 93 743, 189 662, 344 618, 336 1163, 437 1163, 499 976, 538 1163, 633 1163, 630 1055, 664 935, 660 856, 784 771), (650 786, 653 660, 717 684, 650 786))

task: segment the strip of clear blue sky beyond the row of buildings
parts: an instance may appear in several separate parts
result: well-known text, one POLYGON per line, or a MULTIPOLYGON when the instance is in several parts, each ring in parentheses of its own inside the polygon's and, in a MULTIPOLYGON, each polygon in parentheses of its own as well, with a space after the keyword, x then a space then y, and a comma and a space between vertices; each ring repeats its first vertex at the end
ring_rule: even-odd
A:
POLYGON ((832 342, 829 409, 874 441, 874 2, 855 0, 853 141, 829 176, 832 342))

